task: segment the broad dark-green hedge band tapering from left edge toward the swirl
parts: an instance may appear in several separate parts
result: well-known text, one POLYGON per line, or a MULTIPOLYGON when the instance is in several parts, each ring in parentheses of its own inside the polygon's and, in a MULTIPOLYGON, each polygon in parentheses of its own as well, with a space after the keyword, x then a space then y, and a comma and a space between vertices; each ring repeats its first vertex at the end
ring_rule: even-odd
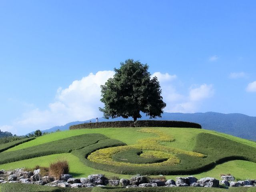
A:
POLYGON ((72 150, 77 150, 85 146, 92 145, 97 143, 99 140, 104 139, 108 139, 108 137, 102 134, 84 134, 16 151, 4 152, 0 154, 0 164, 52 154, 69 153, 72 150))

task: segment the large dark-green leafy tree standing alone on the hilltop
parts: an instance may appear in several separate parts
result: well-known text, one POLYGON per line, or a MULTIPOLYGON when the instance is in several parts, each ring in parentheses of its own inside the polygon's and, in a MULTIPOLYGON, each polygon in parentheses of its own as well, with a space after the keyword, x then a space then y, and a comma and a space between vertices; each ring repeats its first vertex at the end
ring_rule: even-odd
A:
POLYGON ((141 118, 140 112, 150 118, 161 117, 166 103, 162 100, 162 90, 156 77, 150 78, 148 65, 132 59, 121 62, 116 74, 101 85, 99 108, 104 118, 141 118))

